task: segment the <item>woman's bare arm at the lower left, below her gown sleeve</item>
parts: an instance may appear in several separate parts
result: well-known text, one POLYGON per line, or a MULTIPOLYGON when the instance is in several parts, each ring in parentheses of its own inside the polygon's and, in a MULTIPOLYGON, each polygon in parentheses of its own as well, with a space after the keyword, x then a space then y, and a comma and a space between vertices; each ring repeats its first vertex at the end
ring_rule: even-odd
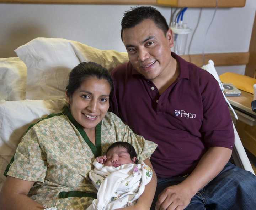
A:
POLYGON ((42 210, 41 204, 30 199, 27 194, 34 182, 7 176, 0 192, 0 209, 42 210))

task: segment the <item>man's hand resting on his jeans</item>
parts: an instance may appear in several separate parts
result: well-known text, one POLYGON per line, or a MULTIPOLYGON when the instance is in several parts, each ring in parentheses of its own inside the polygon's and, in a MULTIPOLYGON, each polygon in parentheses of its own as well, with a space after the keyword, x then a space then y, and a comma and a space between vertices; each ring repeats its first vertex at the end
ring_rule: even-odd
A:
POLYGON ((158 196, 155 210, 183 210, 194 194, 182 183, 164 189, 158 196))

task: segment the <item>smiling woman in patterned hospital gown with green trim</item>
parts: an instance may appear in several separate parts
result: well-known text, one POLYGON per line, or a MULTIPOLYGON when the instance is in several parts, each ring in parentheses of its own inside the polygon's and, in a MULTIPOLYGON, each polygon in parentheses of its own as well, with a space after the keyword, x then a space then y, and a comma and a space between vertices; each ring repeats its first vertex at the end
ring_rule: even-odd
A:
MULTIPOLYGON (((49 115, 23 136, 0 193, 5 210, 85 210, 96 189, 87 174, 92 160, 110 144, 126 141, 151 168, 156 144, 135 135, 116 115, 107 112, 112 79, 96 63, 80 63, 69 75, 63 113, 49 115)), ((136 205, 124 209, 150 209, 156 175, 136 205)))

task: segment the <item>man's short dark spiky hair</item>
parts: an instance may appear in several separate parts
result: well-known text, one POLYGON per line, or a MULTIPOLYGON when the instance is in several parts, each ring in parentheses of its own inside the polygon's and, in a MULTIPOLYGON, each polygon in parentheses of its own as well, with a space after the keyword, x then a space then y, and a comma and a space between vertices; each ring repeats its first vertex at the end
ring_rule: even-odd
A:
POLYGON ((164 16, 161 15, 161 13, 156 10, 154 7, 150 6, 140 6, 140 7, 131 7, 130 10, 126 11, 123 15, 122 21, 121 21, 121 39, 123 41, 123 30, 126 28, 132 28, 135 25, 138 25, 145 19, 151 19, 154 21, 156 26, 160 28, 164 35, 166 35, 169 26, 166 22, 166 19, 164 16))

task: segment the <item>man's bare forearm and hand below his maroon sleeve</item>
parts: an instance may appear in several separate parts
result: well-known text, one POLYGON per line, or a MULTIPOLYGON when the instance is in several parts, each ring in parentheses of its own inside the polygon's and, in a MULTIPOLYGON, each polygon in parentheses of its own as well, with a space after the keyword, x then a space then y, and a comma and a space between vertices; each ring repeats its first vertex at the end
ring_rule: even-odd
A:
POLYGON ((213 180, 231 157, 231 149, 211 147, 202 156, 196 168, 180 184, 165 188, 156 202, 156 210, 183 210, 192 197, 213 180))

